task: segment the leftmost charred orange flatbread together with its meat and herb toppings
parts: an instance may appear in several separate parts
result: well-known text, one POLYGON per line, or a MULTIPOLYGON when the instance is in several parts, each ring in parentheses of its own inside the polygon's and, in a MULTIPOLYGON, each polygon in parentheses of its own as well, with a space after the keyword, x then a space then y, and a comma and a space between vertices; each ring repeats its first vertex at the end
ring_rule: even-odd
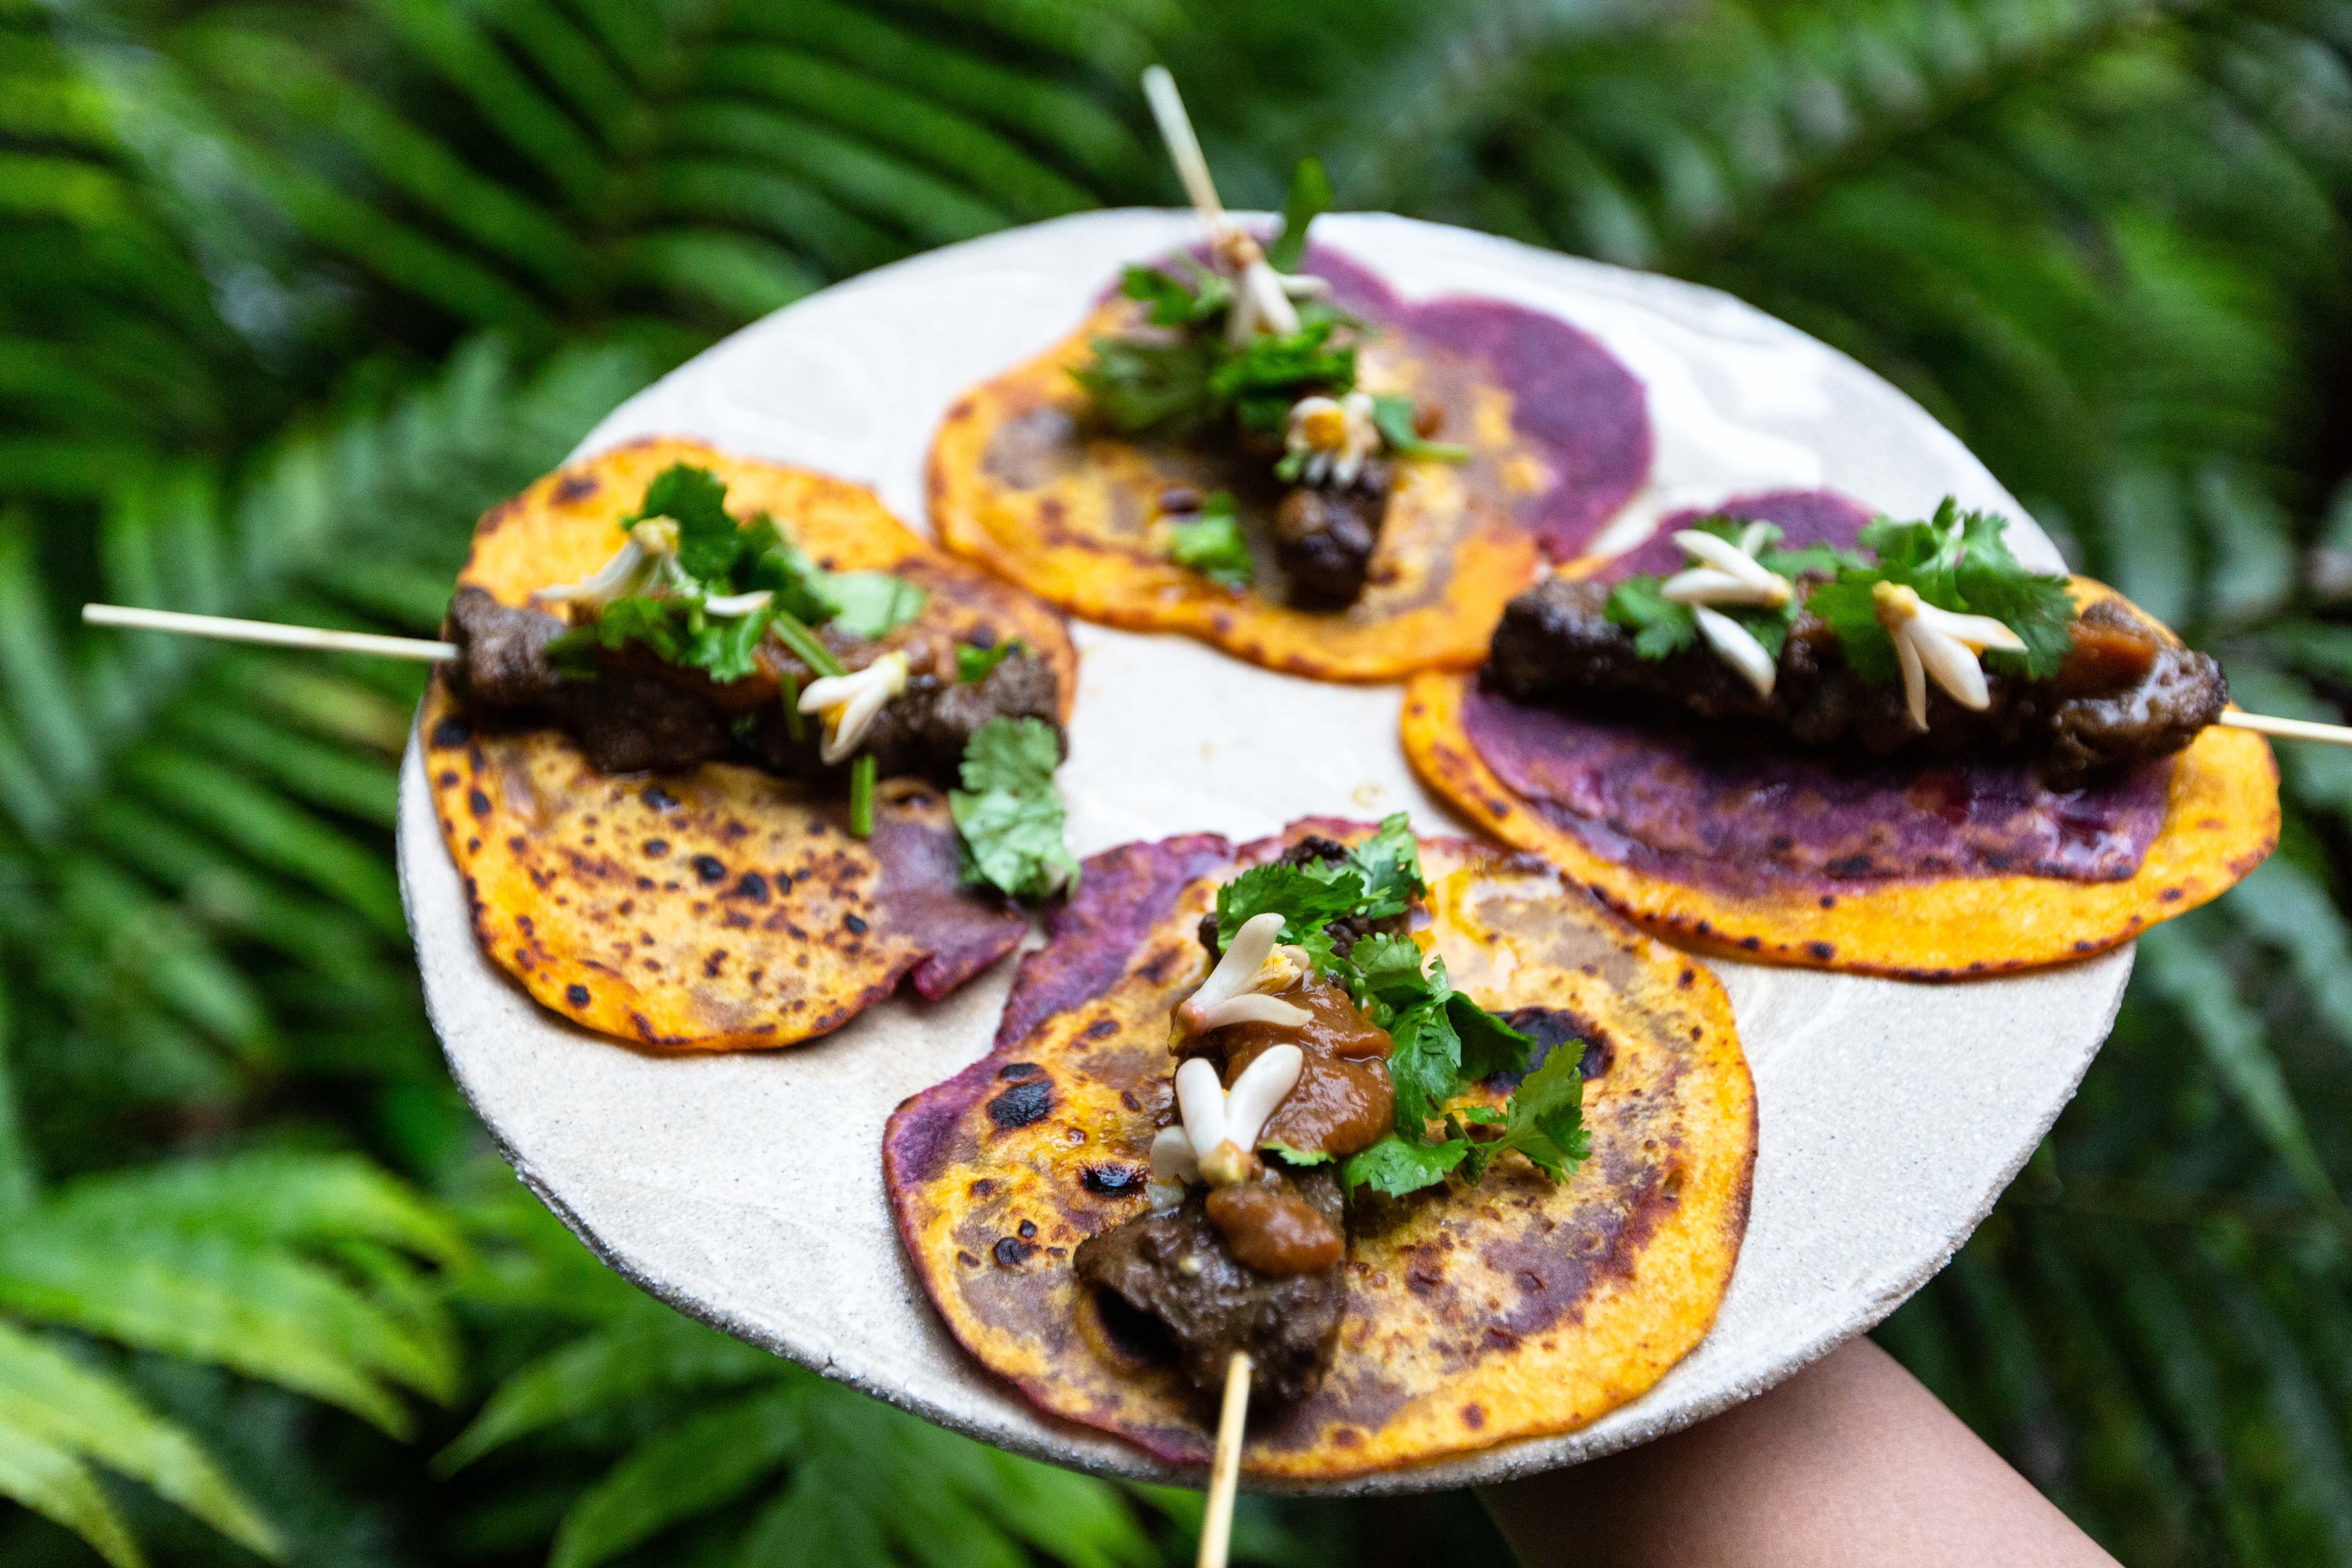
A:
MULTIPOLYGON (((616 604, 628 595, 602 611, 616 604)), ((967 783, 957 748, 1009 715, 1058 752, 1075 651, 1054 611, 929 550, 870 491, 694 442, 619 447, 485 520, 449 635, 466 656, 421 719, 435 745, 470 748, 461 771, 430 776, 445 839, 485 950, 567 1018, 654 1051, 783 1046, 906 983, 946 994, 1018 945, 1025 917, 969 884, 962 792, 941 785, 967 783), (701 534, 673 538, 670 520, 644 517, 649 494, 694 512, 701 534), (621 545, 640 531, 649 543, 630 567, 621 545), (694 576, 729 548, 724 571, 764 576, 694 576), (616 559, 637 578, 604 588, 644 588, 649 604, 623 611, 642 625, 612 646, 581 602, 553 599, 557 616, 534 599, 616 559), (720 604, 720 588, 769 597, 720 604), (786 646, 788 588, 826 595, 826 618, 800 623, 814 646, 786 646), (741 635, 727 609, 774 614, 731 651, 696 644, 741 635), (579 630, 595 635, 567 654, 579 630), (1018 649, 964 682, 957 649, 978 632, 1018 649), (858 762, 818 755, 830 715, 795 715, 797 733, 786 719, 788 682, 816 677, 802 654, 851 675, 908 665, 861 745, 866 795, 858 762), (729 658, 746 668, 720 679, 729 658), (520 919, 527 947, 494 940, 520 919)))

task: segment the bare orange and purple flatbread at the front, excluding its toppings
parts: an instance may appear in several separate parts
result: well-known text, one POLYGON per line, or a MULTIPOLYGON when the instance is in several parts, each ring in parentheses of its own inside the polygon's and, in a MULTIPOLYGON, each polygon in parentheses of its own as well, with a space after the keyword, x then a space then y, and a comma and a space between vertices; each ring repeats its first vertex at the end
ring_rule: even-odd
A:
MULTIPOLYGON (((1070 1253, 1145 1208, 1169 1009, 1207 973, 1195 926, 1216 886, 1303 832, 1369 827, 1094 856, 995 1048, 901 1105, 882 1145, 898 1234, 955 1338, 1040 1408, 1178 1465, 1209 1460, 1211 1413, 1103 1335, 1070 1253)), ((1352 1204, 1336 1361, 1298 1408, 1251 1413, 1256 1476, 1357 1476, 1597 1420, 1705 1338, 1748 1227, 1755 1086, 1715 978, 1526 856, 1421 853, 1418 940, 1454 983, 1576 1016, 1592 1157, 1564 1185, 1510 1157, 1482 1187, 1352 1204)))

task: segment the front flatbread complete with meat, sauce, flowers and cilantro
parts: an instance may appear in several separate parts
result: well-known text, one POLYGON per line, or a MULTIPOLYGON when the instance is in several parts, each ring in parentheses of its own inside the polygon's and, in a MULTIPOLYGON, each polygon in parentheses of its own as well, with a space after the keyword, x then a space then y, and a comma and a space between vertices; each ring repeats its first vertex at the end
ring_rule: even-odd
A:
POLYGON ((884 1131, 898 1234, 981 1363, 1204 1462, 1247 1349, 1242 1462, 1301 1479, 1566 1432, 1639 1394, 1712 1321, 1752 1159, 1710 976, 1538 860, 1402 818, 1091 858, 995 1051, 884 1131), (1439 1037, 1458 1065, 1437 1067, 1439 1037), (1388 1088, 1371 1143, 1301 1114, 1367 1065, 1388 1088), (1054 1119, 1000 1126, 1030 1084, 1054 1119), (1068 1260, 969 1265, 1028 1213, 1077 1229, 1068 1260))

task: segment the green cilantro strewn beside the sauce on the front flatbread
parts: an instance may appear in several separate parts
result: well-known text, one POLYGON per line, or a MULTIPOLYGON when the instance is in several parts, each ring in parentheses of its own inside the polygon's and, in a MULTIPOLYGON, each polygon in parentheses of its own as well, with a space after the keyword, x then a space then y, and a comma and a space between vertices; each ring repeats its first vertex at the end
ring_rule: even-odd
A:
POLYGON ((1381 922, 1406 912, 1428 891, 1421 849, 1409 818, 1385 818, 1341 860, 1258 865, 1216 893, 1218 947, 1258 914, 1282 914, 1282 943, 1348 987, 1364 1016, 1388 1030, 1388 1077, 1395 1086, 1395 1131, 1341 1161, 1341 1180, 1402 1197, 1461 1171, 1477 1182, 1496 1159, 1517 1152, 1555 1180, 1585 1157, 1581 1046, 1557 1046, 1501 1112, 1456 1105, 1465 1084, 1498 1072, 1522 1072, 1536 1041, 1468 994, 1454 990, 1442 957, 1425 954, 1409 936, 1369 931, 1345 952, 1336 922, 1381 922), (1442 1121, 1444 1138, 1428 1135, 1442 1121), (1494 1121, 1498 1138, 1475 1140, 1468 1124, 1494 1121))

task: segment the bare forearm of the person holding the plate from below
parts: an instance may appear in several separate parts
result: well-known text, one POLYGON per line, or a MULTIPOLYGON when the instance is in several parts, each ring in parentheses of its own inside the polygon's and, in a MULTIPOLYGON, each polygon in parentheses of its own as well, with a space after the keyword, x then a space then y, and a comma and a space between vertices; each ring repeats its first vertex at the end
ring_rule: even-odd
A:
POLYGON ((2114 1563, 1870 1340, 1686 1432, 1479 1497, 1522 1568, 2114 1563))

